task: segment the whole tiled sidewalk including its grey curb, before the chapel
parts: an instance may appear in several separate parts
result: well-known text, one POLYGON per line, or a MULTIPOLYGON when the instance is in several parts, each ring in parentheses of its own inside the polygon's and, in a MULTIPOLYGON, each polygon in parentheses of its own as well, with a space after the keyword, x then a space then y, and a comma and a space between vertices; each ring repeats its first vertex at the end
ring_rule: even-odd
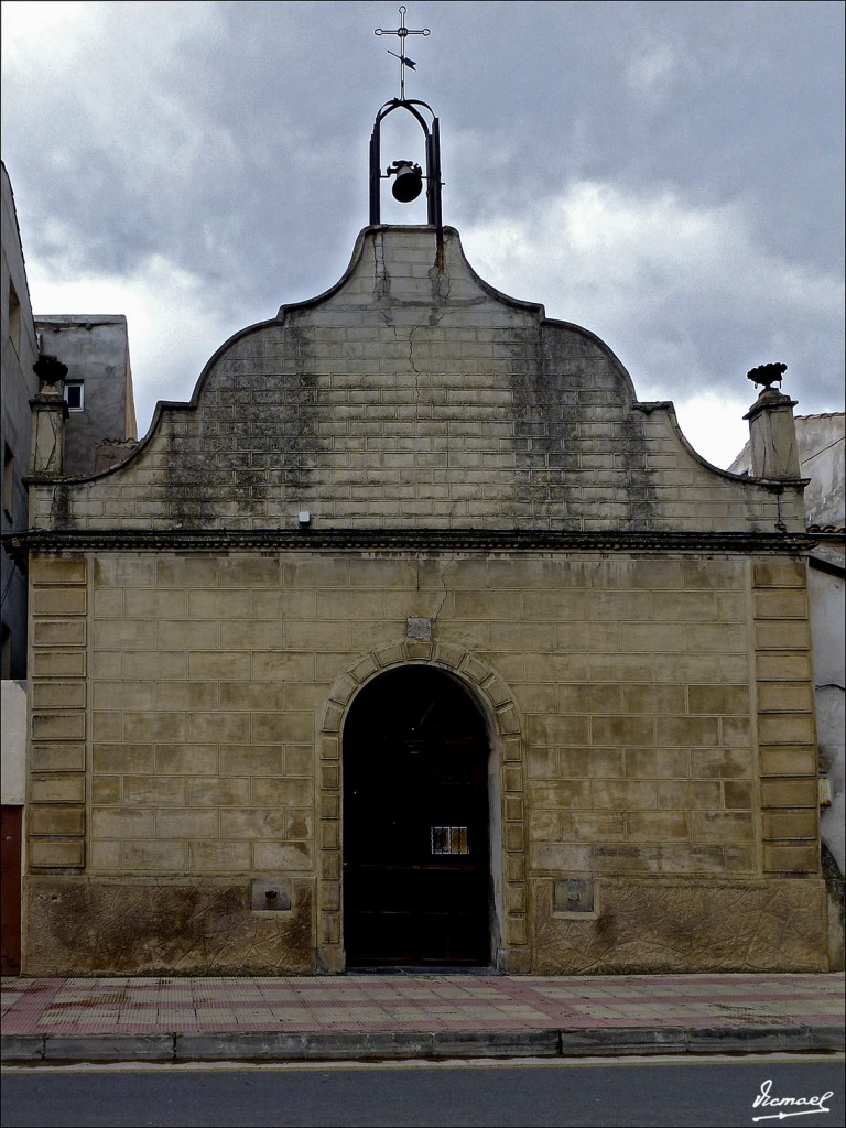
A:
POLYGON ((6 1061, 844 1048, 844 976, 362 973, 2 980, 6 1061))

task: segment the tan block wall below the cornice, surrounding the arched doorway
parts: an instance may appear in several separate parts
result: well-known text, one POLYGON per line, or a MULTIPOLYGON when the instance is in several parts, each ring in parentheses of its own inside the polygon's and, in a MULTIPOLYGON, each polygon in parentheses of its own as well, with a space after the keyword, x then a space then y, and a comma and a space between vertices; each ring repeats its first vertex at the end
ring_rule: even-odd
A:
POLYGON ((488 719, 502 967, 825 966, 801 561, 164 550, 30 574, 28 973, 343 967, 343 722, 415 662, 488 719), (285 911, 252 908, 258 878, 285 911))

